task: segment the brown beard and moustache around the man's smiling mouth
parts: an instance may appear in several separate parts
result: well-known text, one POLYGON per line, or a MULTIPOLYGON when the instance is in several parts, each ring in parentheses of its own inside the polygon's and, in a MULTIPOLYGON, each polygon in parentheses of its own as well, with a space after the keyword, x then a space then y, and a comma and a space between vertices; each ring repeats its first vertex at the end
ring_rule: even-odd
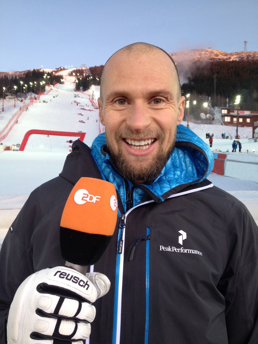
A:
POLYGON ((175 139, 176 130, 169 149, 165 151, 162 147, 165 137, 161 129, 157 129, 156 131, 146 130, 139 135, 136 135, 130 129, 118 130, 116 133, 118 153, 115 153, 106 136, 107 148, 112 162, 123 177, 130 180, 133 184, 148 183, 158 177, 175 147, 175 139), (158 152, 153 158, 150 159, 148 156, 129 156, 123 154, 121 137, 130 137, 132 140, 142 140, 147 136, 156 137, 159 140, 158 152))

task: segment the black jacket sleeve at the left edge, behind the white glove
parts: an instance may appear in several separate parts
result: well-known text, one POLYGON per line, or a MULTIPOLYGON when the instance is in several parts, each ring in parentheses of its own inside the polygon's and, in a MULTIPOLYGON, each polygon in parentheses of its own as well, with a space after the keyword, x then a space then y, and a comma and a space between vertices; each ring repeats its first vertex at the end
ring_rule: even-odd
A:
POLYGON ((9 308, 20 284, 32 273, 31 235, 41 217, 37 193, 32 192, 12 223, 0 250, 0 344, 7 343, 9 308))

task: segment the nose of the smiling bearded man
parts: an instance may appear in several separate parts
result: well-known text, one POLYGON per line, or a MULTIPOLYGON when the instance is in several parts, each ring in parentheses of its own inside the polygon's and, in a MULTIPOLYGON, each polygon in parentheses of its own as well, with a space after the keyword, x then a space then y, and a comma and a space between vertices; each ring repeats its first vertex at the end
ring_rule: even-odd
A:
POLYGON ((126 124, 135 132, 147 129, 151 124, 150 109, 142 102, 136 102, 127 114, 126 124))

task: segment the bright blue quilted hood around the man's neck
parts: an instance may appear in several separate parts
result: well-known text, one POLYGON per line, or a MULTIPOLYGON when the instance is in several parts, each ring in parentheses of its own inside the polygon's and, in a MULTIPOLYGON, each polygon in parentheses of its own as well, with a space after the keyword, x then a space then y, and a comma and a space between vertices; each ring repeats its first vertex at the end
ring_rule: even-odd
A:
MULTIPOLYGON (((120 194, 122 203, 126 205, 126 186, 124 179, 112 168, 108 154, 103 155, 100 148, 106 144, 105 133, 96 137, 92 144, 92 153, 98 162, 105 178, 113 183, 120 194)), ((192 130, 182 124, 177 127, 176 144, 173 152, 161 174, 151 185, 141 184, 147 187, 161 201, 169 195, 184 187, 201 182, 207 178, 214 165, 213 154, 208 145, 200 139, 192 130), (169 192, 170 191, 170 192, 169 192)), ((129 190, 132 183, 129 182, 129 190)), ((133 190, 133 206, 139 203, 146 192, 140 187, 133 190)))

